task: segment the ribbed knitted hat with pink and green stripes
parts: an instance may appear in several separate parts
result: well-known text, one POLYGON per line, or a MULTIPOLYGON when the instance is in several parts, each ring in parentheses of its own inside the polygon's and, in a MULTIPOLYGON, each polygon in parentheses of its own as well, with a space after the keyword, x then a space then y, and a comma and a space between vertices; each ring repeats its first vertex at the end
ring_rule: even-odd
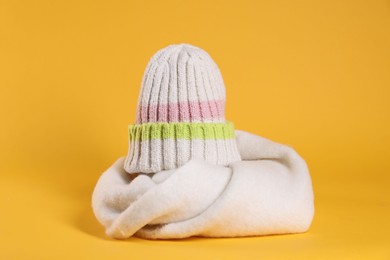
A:
POLYGON ((159 50, 149 61, 129 126, 128 173, 178 168, 192 158, 228 165, 241 160, 225 121, 225 86, 210 55, 190 44, 159 50))

